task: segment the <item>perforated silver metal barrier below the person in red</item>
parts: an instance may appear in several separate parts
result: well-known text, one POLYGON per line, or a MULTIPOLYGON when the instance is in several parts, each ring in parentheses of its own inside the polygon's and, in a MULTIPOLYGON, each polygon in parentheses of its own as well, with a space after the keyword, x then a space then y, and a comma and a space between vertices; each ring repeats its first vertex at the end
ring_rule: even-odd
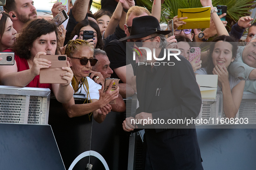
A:
POLYGON ((0 123, 47 125, 51 90, 0 86, 0 123))

